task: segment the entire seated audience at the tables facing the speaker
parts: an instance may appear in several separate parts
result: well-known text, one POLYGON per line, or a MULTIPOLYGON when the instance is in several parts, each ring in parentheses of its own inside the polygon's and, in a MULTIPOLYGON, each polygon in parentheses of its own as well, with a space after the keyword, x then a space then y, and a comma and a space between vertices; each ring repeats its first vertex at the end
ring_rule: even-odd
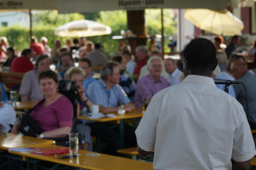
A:
MULTIPOLYGON (((256 106, 254 105, 256 102, 254 90, 256 53, 250 52, 253 69, 247 71, 246 58, 240 54, 234 54, 234 51, 230 52, 230 48, 228 48, 230 56, 227 56, 225 50, 216 45, 220 41, 218 38, 214 40, 219 63, 212 77, 238 80, 245 84, 249 111, 247 111, 245 100, 246 94, 241 86, 231 85, 229 93, 248 112, 247 119, 251 129, 256 129, 256 106)), ((161 53, 157 51, 149 53, 145 46, 139 46, 135 50, 136 59, 138 59, 136 64, 128 48, 108 60, 100 44, 85 42, 84 38, 81 44, 78 39, 74 39, 74 46, 71 46, 71 41, 66 41, 65 47, 62 47, 60 40, 56 40, 52 49, 48 48, 46 37, 41 39, 42 44, 34 41, 32 47, 24 49, 20 57, 15 56, 13 48, 7 48, 8 59, 3 65, 9 67, 9 71, 26 73, 20 84, 19 94, 21 101, 38 101, 39 103, 31 111, 31 116, 44 130, 43 133, 38 134, 37 138, 57 138, 68 135, 73 126, 74 114, 86 116, 90 114, 92 105, 99 105, 100 112, 103 114, 116 113, 120 105, 126 112, 140 109, 145 99, 151 100, 162 89, 181 83, 185 77, 183 70, 179 68, 179 64, 183 63, 183 56, 179 61, 172 58, 162 59, 161 53), (38 48, 39 51, 37 51, 38 48), (77 56, 73 57, 74 50, 81 54, 79 59, 76 58, 77 56), (36 61, 35 66, 31 60, 36 61), (54 64, 55 69, 50 69, 51 64, 54 64), (93 67, 99 65, 100 79, 96 80, 93 67), (134 79, 134 75, 139 76, 139 79, 134 79), (77 113, 74 112, 71 101, 58 92, 58 83, 62 79, 76 82, 81 99, 77 113)), ((0 85, 1 99, 7 100, 3 85, 1 83, 0 85)), ((225 85, 217 85, 217 87, 225 90, 225 85)), ((19 133, 20 122, 14 120, 14 110, 10 105, 0 103, 0 116, 2 132, 19 133), (1 115, 3 111, 9 112, 8 116, 1 115)), ((139 120, 134 122, 137 121, 139 120)), ((137 124, 125 124, 125 147, 136 146, 134 132, 137 124)), ((80 120, 75 126, 82 136, 83 150, 94 150, 92 136, 99 139, 100 150, 98 150, 102 153, 116 155, 121 147, 119 128, 112 128, 112 123, 80 120)), ((256 136, 254 138, 256 139, 256 136)))

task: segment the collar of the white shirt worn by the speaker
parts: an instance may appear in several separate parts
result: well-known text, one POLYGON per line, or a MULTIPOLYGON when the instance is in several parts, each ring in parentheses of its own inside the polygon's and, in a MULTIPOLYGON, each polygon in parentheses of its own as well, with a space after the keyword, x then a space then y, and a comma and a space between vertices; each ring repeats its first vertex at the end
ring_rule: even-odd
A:
POLYGON ((189 76, 185 77, 185 79, 182 83, 185 83, 185 82, 192 82, 192 83, 196 83, 196 84, 206 84, 206 85, 216 87, 212 77, 189 75, 189 76))

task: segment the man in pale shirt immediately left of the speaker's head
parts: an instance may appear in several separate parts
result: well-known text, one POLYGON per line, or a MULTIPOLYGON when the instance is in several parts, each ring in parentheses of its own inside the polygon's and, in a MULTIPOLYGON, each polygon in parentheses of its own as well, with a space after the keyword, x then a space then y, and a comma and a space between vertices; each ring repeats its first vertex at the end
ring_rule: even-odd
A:
POLYGON ((164 59, 164 68, 168 72, 168 80, 171 82, 171 85, 179 84, 179 77, 182 72, 177 68, 176 61, 171 58, 164 59))

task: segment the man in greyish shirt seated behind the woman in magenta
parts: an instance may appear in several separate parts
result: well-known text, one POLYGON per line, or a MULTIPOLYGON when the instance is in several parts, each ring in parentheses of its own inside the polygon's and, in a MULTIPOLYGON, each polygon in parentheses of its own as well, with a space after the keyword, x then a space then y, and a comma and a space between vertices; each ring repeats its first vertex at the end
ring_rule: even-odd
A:
MULTIPOLYGON (((28 71, 22 78, 20 85, 21 101, 39 101, 43 99, 43 93, 38 82, 38 75, 50 68, 50 59, 47 55, 40 55, 37 58, 36 69, 28 71)), ((60 80, 61 77, 59 76, 60 80)))

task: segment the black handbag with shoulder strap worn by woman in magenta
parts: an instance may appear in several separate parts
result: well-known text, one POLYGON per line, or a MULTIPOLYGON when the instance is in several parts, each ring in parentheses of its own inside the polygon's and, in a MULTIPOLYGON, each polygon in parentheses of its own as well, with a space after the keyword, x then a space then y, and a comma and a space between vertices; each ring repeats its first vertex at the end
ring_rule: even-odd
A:
POLYGON ((37 137, 37 135, 43 133, 43 128, 40 127, 30 115, 31 111, 37 108, 38 105, 42 104, 43 101, 44 99, 37 103, 37 105, 35 105, 30 111, 27 111, 26 114, 22 117, 20 121, 20 133, 31 137, 37 137))

